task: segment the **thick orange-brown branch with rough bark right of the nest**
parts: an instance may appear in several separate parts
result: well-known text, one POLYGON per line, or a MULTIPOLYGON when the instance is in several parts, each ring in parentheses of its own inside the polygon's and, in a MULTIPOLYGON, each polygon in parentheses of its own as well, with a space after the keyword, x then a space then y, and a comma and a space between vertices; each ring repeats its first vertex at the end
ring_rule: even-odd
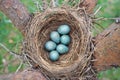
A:
POLYGON ((98 71, 120 66, 120 23, 113 23, 95 40, 95 68, 98 71))

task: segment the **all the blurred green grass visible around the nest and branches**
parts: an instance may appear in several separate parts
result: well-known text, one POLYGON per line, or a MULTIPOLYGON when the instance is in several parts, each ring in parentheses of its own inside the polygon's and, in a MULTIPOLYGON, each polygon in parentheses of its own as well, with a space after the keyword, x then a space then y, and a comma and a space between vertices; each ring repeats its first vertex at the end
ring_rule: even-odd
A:
MULTIPOLYGON (((39 11, 37 3, 41 4, 41 0, 21 0, 31 13, 39 11)), ((49 1, 49 0, 48 0, 49 1)), ((63 0, 59 0, 61 4, 63 0)), ((95 11, 101 6, 102 8, 95 15, 97 18, 114 18, 120 16, 119 8, 120 0, 98 0, 95 11)), ((68 3, 72 5, 71 3, 68 3)), ((100 32, 109 26, 114 20, 97 21, 95 27, 100 32), (98 25, 99 24, 99 25, 98 25), (100 25, 102 27, 100 27, 100 25)), ((93 30, 94 35, 98 34, 93 30)), ((11 51, 19 53, 23 37, 21 33, 12 25, 11 21, 0 12, 0 43, 4 44, 11 51)), ((6 50, 0 47, 0 73, 15 72, 20 64, 19 59, 14 58, 6 50)), ((22 68, 21 68, 22 69, 22 68)), ((101 80, 120 80, 120 68, 111 69, 98 74, 101 80)))

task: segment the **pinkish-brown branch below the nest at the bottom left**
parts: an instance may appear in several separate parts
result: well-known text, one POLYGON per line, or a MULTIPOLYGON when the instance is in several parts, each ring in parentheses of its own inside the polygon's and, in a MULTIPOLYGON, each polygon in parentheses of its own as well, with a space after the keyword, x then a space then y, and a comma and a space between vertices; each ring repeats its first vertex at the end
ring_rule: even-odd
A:
POLYGON ((27 69, 15 74, 1 75, 0 80, 47 80, 42 73, 33 69, 27 69))

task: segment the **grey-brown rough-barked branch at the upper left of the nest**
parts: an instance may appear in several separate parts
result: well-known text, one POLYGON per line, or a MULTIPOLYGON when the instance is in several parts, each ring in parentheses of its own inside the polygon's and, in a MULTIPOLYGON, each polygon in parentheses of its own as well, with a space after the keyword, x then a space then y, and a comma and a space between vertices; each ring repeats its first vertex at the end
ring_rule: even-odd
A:
POLYGON ((0 0, 0 11, 9 17, 12 23, 24 34, 30 16, 20 0, 0 0))

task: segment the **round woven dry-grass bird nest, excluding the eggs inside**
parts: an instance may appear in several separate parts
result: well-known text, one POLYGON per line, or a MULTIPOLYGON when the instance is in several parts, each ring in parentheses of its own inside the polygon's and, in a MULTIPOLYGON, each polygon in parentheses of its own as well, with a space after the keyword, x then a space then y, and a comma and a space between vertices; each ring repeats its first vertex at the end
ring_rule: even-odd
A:
POLYGON ((93 75, 90 65, 92 55, 90 25, 85 16, 80 15, 78 10, 66 8, 53 8, 36 13, 27 25, 24 40, 24 53, 30 64, 37 65, 51 80, 87 79, 88 75, 89 77, 93 75), (45 51, 44 44, 49 40, 50 32, 57 30, 62 24, 67 24, 71 28, 70 50, 67 54, 61 55, 58 61, 52 62, 48 58, 49 53, 45 51))

